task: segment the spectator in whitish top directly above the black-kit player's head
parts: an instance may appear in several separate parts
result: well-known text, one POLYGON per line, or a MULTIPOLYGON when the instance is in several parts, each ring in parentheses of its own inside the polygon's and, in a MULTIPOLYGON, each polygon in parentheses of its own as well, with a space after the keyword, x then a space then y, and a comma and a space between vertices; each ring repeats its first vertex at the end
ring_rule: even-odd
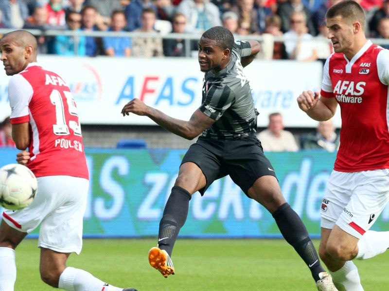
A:
POLYGON ((188 32, 202 33, 212 26, 221 25, 219 9, 210 1, 181 1, 177 12, 185 15, 188 32))

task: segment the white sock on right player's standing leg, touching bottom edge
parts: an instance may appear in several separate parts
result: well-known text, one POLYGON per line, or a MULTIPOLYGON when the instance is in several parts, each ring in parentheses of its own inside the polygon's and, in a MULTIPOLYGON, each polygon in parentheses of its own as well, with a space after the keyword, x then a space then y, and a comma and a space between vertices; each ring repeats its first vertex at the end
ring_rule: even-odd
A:
POLYGON ((346 261, 339 270, 329 273, 339 291, 363 291, 358 269, 352 261, 346 261))

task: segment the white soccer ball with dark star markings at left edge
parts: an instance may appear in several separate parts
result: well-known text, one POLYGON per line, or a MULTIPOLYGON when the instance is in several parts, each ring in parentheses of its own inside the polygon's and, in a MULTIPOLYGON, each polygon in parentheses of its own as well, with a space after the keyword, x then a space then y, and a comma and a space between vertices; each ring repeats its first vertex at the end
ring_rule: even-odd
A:
POLYGON ((23 209, 33 202, 37 188, 35 175, 26 166, 8 164, 0 168, 0 206, 23 209))

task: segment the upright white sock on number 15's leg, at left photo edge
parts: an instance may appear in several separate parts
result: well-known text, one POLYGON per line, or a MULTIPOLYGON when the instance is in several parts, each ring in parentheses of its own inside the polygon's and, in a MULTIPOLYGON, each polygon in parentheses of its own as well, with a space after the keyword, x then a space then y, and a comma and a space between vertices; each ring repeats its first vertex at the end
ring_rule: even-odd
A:
POLYGON ((0 247, 0 291, 14 291, 15 281, 15 250, 0 247))

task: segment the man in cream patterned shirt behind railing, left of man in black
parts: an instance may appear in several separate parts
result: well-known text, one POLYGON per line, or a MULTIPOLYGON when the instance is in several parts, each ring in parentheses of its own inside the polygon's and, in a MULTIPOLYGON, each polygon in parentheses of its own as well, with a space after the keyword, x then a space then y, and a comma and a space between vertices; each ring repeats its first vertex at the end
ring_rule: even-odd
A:
MULTIPOLYGON (((145 8, 142 12, 142 26, 134 32, 158 33, 154 30, 156 14, 154 8, 145 8)), ((134 37, 132 49, 135 57, 163 56, 162 39, 159 37, 134 37)))

